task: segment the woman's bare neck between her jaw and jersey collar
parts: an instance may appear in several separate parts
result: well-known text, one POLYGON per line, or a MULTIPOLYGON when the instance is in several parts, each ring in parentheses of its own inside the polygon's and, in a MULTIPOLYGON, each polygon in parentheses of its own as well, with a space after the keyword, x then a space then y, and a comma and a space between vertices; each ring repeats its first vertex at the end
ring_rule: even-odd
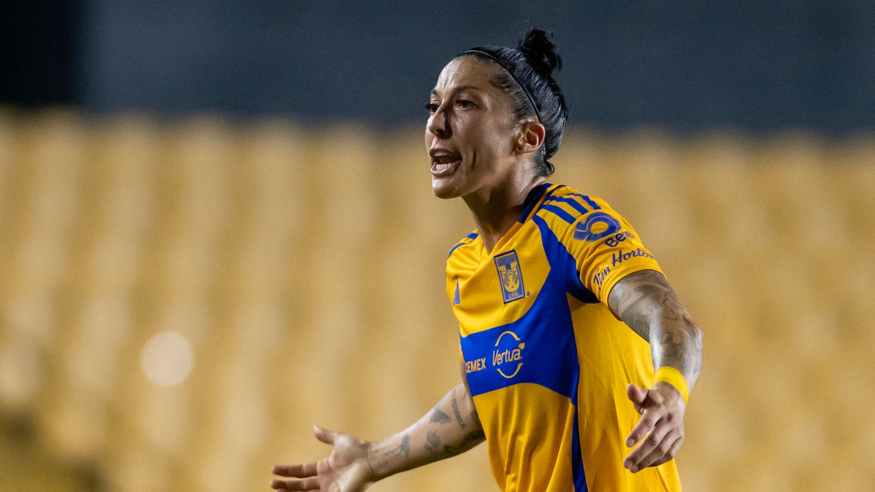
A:
POLYGON ((511 179, 495 188, 463 197, 487 252, 492 253, 498 241, 520 218, 528 193, 543 183, 546 183, 546 178, 542 176, 511 179))

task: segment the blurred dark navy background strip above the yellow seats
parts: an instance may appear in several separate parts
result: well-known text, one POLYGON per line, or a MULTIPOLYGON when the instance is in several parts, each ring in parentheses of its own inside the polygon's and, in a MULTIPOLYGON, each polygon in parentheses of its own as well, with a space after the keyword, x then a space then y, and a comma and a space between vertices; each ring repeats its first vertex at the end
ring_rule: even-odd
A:
POLYGON ((871 0, 12 0, 0 103, 395 127, 453 55, 528 22, 556 33, 574 125, 875 128, 871 0))

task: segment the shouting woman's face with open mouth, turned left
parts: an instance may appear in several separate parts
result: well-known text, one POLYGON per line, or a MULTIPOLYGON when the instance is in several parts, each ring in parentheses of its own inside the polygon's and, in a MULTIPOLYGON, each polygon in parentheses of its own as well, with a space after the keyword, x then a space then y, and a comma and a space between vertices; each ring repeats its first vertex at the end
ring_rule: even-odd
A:
POLYGON ((511 96, 492 84, 500 70, 466 56, 453 59, 437 78, 425 126, 437 197, 465 197, 500 186, 514 170, 519 131, 511 96))

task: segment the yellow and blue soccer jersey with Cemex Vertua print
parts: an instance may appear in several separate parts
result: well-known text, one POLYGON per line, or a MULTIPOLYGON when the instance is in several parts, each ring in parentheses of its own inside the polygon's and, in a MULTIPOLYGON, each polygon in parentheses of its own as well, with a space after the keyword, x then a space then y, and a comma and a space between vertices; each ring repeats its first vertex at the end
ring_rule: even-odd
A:
POLYGON ((654 367, 607 296, 644 269, 661 271, 632 226, 563 185, 535 188, 492 252, 476 231, 452 247, 447 295, 504 492, 681 489, 674 460, 623 468, 640 419, 626 386, 651 387, 654 367))

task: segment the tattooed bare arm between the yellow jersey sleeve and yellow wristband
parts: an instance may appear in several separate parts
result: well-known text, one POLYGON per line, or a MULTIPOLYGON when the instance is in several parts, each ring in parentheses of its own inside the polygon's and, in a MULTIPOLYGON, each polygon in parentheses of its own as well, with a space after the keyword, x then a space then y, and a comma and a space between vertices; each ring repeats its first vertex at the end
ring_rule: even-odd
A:
POLYGON ((702 367, 702 330, 665 277, 655 270, 628 274, 611 290, 608 305, 650 343, 654 367, 676 368, 692 389, 702 367))

